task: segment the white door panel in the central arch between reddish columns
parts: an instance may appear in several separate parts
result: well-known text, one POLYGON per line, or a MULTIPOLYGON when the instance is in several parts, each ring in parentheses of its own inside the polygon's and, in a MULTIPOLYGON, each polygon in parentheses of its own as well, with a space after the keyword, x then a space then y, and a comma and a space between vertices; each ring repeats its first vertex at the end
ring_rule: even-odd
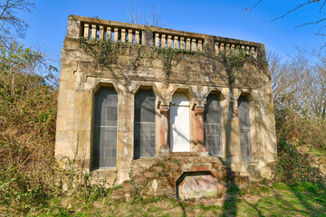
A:
POLYGON ((190 151, 189 100, 184 93, 175 93, 170 108, 171 152, 190 151))

